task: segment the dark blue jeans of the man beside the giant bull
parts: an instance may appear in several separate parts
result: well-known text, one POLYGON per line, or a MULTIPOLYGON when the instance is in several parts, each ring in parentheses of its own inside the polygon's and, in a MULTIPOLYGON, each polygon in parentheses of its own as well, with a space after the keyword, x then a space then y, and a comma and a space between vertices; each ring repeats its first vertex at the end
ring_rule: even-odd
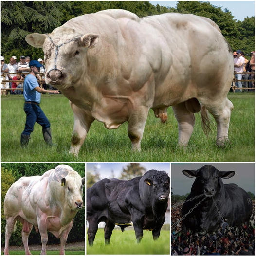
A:
POLYGON ((25 129, 22 132, 23 134, 30 135, 30 133, 34 130, 34 125, 36 122, 41 125, 43 129, 50 128, 50 122, 45 116, 43 110, 41 110, 39 104, 25 103, 24 111, 27 118, 25 129))

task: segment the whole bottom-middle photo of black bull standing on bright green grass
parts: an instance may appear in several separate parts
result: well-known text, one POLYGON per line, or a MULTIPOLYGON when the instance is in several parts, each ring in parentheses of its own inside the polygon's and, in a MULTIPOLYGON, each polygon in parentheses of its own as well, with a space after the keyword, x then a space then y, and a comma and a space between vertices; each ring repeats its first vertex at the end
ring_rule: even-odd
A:
POLYGON ((170 163, 87 163, 86 176, 87 254, 170 253, 170 163))

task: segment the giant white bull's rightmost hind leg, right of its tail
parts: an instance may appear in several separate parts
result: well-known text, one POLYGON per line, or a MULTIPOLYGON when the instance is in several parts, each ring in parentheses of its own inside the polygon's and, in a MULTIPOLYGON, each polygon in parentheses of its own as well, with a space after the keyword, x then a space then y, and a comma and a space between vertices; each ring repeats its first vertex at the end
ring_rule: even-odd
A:
POLYGON ((234 106, 230 100, 225 98, 222 101, 214 102, 212 105, 207 102, 206 108, 213 115, 217 123, 217 140, 218 146, 224 146, 228 141, 228 128, 231 116, 231 111, 234 106))

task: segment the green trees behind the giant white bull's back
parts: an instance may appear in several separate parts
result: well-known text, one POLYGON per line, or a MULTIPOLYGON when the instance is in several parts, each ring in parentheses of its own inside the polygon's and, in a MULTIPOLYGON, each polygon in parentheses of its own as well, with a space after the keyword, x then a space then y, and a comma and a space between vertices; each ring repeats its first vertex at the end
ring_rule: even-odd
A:
POLYGON ((1 1, 1 55, 42 57, 42 49, 28 45, 26 35, 51 33, 71 18, 105 9, 125 9, 139 17, 167 12, 204 16, 217 23, 234 51, 241 49, 247 58, 254 51, 254 16, 237 21, 229 10, 210 2, 179 1, 171 8, 148 1, 1 1))

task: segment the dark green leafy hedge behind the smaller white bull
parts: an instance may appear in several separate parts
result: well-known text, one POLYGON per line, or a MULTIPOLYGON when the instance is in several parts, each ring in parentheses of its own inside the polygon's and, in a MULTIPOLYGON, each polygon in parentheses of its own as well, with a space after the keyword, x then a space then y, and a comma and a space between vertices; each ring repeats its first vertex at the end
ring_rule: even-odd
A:
MULTIPOLYGON (((62 163, 2 163, 2 244, 4 244, 5 237, 5 217, 3 215, 3 201, 7 190, 10 186, 22 176, 34 176, 42 175, 44 172, 54 169, 57 165, 62 163)), ((63 163, 66 164, 66 163, 63 163)), ((75 171, 77 171, 81 177, 85 175, 84 163, 68 163, 75 171)), ((83 201, 85 199, 85 191, 83 193, 83 201)), ((22 225, 17 221, 17 231, 12 234, 10 239, 10 245, 21 245, 21 230, 22 225)), ((48 233, 48 244, 59 244, 60 240, 55 238, 50 232, 48 233)), ((84 241, 85 236, 85 210, 80 210, 75 218, 73 228, 71 229, 68 237, 68 242, 84 241)), ((29 244, 41 244, 41 238, 39 233, 36 233, 35 229, 29 236, 29 244)))

